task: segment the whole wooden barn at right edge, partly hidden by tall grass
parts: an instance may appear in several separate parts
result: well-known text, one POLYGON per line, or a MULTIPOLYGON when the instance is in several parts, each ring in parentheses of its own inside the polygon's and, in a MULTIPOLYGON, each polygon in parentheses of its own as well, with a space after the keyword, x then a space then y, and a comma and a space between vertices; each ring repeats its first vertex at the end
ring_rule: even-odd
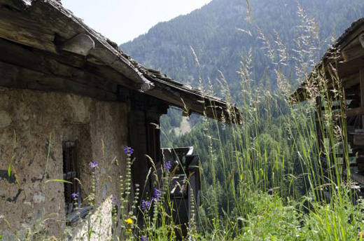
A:
MULTIPOLYGON (((323 116, 328 109, 349 148, 332 148, 330 159, 342 160, 343 178, 350 168, 351 179, 364 185, 364 18, 353 22, 328 49, 309 78, 290 100, 294 103, 316 98, 316 131, 323 150, 327 138, 323 116), (325 91, 322 91, 325 90, 325 91), (330 106, 328 106, 330 103, 330 106), (328 108, 329 107, 329 108, 328 108)), ((330 142, 326 142, 329 143, 330 142)), ((342 145, 342 146, 344 146, 342 145)), ((327 156, 323 156, 323 165, 327 156)))

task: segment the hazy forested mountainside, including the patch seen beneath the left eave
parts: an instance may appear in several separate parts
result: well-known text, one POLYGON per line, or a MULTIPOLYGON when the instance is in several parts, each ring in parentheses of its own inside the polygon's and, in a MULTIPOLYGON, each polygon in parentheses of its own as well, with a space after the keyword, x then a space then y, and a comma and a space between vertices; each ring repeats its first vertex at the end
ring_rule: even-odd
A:
MULTIPOLYGON (((281 64, 291 85, 297 86, 297 75, 310 71, 332 41, 364 16, 364 1, 346 3, 213 0, 188 15, 155 25, 147 34, 120 47, 146 67, 160 69, 182 83, 213 90, 215 95, 223 95, 223 74, 232 101, 241 104, 242 57, 251 59, 244 64, 251 66, 255 84, 268 76, 269 85, 275 88, 274 69, 281 64)), ((162 118, 162 127, 172 142, 176 132, 171 130, 190 129, 186 123, 181 125, 181 120, 181 113, 173 110, 162 118)), ((189 125, 198 122, 193 117, 189 125)), ((166 139, 162 141, 166 146, 166 139)))

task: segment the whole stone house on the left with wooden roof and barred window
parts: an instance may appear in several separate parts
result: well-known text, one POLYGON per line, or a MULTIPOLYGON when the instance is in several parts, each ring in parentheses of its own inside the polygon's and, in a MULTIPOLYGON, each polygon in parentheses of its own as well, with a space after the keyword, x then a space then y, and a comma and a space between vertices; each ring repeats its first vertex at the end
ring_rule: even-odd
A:
MULTIPOLYGON (((133 185, 151 188, 146 155, 162 162, 158 125, 169 106, 185 116, 239 122, 235 106, 141 66, 55 0, 0 1, 0 73, 4 239, 40 226, 63 233, 76 206, 91 212, 83 202, 95 175, 92 215, 101 219, 91 215, 92 239, 106 240, 111 196, 118 196, 116 180, 125 177, 123 148, 134 149, 133 185), (78 193, 78 203, 71 193, 78 193)), ((69 237, 85 239, 86 228, 75 226, 69 237)))

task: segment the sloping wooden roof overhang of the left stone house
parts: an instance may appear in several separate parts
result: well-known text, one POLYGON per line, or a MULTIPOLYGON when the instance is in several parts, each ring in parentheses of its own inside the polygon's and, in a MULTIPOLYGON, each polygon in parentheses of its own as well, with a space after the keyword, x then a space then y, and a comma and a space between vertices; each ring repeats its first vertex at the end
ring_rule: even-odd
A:
POLYGON ((0 39, 42 50, 72 67, 83 69, 85 63, 92 64, 87 71, 179 106, 185 115, 198 113, 220 121, 234 116, 232 122, 240 123, 240 111, 234 104, 143 67, 59 1, 0 0, 0 39))

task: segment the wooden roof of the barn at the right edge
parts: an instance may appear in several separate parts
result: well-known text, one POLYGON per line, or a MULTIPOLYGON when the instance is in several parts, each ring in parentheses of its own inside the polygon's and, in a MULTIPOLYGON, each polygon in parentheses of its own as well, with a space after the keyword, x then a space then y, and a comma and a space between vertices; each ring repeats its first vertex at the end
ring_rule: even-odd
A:
POLYGON ((329 76, 337 75, 342 86, 350 88, 358 83, 359 71, 364 67, 364 18, 360 18, 345 30, 344 34, 335 41, 321 59, 308 78, 300 85, 295 92, 290 95, 290 102, 302 102, 309 99, 310 85, 316 84, 316 74, 322 71, 328 84, 332 87, 332 78, 329 76))

